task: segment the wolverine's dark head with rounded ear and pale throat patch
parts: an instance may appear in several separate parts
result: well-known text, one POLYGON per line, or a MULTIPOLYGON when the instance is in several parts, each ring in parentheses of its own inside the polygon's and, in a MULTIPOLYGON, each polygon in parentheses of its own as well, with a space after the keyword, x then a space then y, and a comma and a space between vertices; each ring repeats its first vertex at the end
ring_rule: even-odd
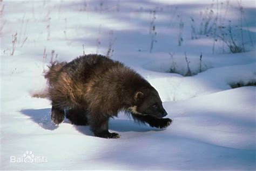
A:
POLYGON ((139 90, 134 95, 134 105, 129 108, 137 115, 150 115, 163 118, 167 115, 159 94, 153 87, 139 90))

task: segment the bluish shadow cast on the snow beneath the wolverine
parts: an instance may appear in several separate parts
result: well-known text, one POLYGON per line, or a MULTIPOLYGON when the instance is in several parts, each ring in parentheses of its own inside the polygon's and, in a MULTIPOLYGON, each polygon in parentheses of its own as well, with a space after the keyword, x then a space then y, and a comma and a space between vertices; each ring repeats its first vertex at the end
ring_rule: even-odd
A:
MULTIPOLYGON (((55 130, 59 126, 52 123, 51 121, 51 109, 24 109, 21 110, 21 113, 23 115, 29 116, 30 119, 37 123, 39 126, 41 126, 45 130, 55 130)), ((63 123, 69 123, 68 119, 64 119, 63 123)), ((76 130, 79 132, 87 135, 87 136, 93 136, 89 126, 77 126, 73 125, 76 130)), ((144 124, 137 124, 134 123, 133 120, 129 119, 111 119, 109 122, 109 129, 111 131, 117 131, 117 132, 148 132, 148 131, 158 131, 158 129, 154 129, 148 125, 144 124)))

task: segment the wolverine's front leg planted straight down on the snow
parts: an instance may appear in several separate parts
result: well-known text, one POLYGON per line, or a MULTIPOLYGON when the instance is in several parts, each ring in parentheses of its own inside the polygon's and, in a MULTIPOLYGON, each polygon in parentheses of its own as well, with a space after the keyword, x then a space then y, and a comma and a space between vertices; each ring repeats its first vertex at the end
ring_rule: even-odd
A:
POLYGON ((118 133, 109 132, 109 117, 103 116, 88 116, 89 124, 92 132, 96 137, 101 138, 120 138, 118 133))

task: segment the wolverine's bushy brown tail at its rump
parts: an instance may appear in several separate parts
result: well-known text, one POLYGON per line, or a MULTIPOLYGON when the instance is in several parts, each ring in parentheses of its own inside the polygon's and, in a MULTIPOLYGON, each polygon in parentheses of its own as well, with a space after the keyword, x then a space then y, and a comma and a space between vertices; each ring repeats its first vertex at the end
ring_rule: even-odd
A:
POLYGON ((48 66, 49 70, 45 72, 44 77, 48 80, 48 83, 51 85, 57 79, 59 70, 66 65, 66 62, 52 62, 48 66))

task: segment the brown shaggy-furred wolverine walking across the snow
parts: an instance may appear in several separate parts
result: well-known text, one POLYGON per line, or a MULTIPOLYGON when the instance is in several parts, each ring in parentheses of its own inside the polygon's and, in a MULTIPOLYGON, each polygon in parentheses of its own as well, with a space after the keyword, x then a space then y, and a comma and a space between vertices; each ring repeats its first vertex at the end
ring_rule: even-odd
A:
POLYGON ((106 56, 88 54, 67 62, 52 62, 45 73, 51 120, 90 125, 96 137, 119 138, 109 132, 110 117, 119 111, 130 113, 134 120, 162 129, 172 120, 167 115, 159 94, 134 70, 106 56))

